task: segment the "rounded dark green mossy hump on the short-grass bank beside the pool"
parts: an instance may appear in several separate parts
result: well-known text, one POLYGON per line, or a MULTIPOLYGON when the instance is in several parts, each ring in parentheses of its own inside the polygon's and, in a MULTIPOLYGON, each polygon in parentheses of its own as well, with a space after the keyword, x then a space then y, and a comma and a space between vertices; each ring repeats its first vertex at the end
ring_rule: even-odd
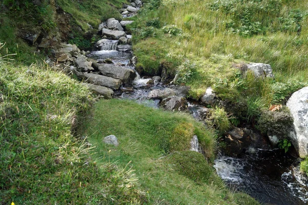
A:
POLYGON ((174 152, 167 160, 176 171, 196 182, 207 181, 213 173, 204 156, 195 151, 174 152))

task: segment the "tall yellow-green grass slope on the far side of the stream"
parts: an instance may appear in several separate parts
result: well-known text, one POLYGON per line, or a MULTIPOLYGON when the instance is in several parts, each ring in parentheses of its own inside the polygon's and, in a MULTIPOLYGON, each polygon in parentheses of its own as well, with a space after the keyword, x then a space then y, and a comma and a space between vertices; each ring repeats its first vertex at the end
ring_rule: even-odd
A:
MULTIPOLYGON (((262 109, 284 104, 292 92, 308 85, 306 53, 308 7, 305 1, 206 0, 148 1, 134 28, 134 51, 149 73, 162 63, 191 87, 189 97, 198 100, 211 86, 243 121, 254 121, 262 109), (157 5, 160 2, 159 7, 157 5), (159 19, 162 28, 143 35, 159 19), (152 51, 159 49, 160 52, 152 51), (149 57, 151 56, 151 57, 149 57), (191 74, 185 67, 196 65, 191 74), (275 79, 243 77, 239 65, 270 64, 275 79), (189 77, 187 77, 189 76, 189 77)), ((171 75, 172 76, 172 75, 171 75)))

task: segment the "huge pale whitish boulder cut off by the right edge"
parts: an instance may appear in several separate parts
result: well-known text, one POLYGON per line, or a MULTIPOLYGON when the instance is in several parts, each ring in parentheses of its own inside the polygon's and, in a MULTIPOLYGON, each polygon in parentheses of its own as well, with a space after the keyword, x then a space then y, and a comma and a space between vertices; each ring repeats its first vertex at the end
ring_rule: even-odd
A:
POLYGON ((286 106, 294 117, 289 137, 301 158, 308 156, 308 87, 292 94, 286 106))

